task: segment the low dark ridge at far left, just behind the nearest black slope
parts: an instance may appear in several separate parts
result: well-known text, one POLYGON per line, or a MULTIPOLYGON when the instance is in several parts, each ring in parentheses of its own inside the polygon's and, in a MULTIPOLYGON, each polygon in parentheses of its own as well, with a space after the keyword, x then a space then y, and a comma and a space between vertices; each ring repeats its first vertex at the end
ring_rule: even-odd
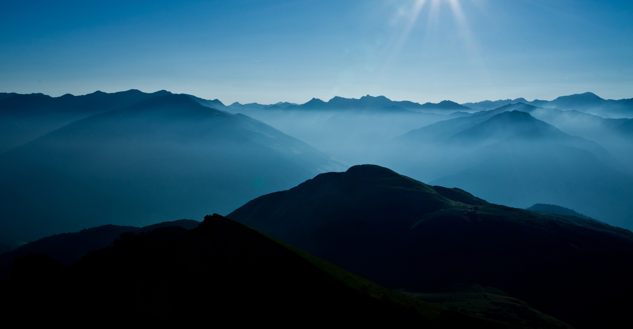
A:
POLYGON ((163 223, 141 228, 120 225, 101 225, 100 227, 85 228, 79 232, 61 233, 44 237, 22 245, 14 251, 5 252, 0 255, 0 281, 9 278, 13 261, 20 256, 26 256, 27 254, 47 254, 60 261, 63 266, 70 266, 80 261, 82 256, 89 251, 108 247, 112 244, 112 241, 124 232, 149 232, 156 228, 168 226, 177 226, 192 230, 196 228, 199 223, 199 221, 195 220, 163 221, 163 223))

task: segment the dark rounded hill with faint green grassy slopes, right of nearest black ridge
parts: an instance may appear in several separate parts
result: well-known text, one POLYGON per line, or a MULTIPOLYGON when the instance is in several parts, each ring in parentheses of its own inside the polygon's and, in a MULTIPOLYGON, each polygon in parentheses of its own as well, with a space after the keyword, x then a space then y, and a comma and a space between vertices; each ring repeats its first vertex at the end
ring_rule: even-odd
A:
MULTIPOLYGON (((373 165, 318 175, 228 217, 410 294, 480 285, 577 328, 632 324, 633 233, 596 221, 489 204, 373 165)), ((473 312, 494 317, 499 305, 473 312)))

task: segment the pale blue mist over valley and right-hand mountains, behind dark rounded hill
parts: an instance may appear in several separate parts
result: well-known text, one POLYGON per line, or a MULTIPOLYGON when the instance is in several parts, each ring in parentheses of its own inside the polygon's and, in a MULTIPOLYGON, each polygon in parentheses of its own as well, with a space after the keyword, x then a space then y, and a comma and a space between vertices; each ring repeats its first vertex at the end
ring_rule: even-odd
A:
POLYGON ((497 101, 492 107, 500 105, 492 109, 440 114, 446 109, 362 108, 358 99, 336 109, 229 111, 248 113, 349 165, 373 163, 431 185, 468 190, 489 202, 517 208, 557 204, 632 228, 628 125, 633 120, 627 116, 633 111, 622 106, 626 99, 598 108, 590 102, 593 96, 559 97, 570 103, 558 101, 565 110, 530 105, 548 106, 547 101, 518 99, 497 101))

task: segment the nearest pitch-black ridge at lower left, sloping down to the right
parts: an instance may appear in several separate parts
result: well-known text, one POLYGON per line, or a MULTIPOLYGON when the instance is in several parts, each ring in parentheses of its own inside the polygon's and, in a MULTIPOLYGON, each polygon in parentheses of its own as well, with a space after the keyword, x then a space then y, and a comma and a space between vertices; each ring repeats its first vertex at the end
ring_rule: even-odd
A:
POLYGON ((66 268, 46 255, 18 258, 2 289, 4 320, 28 316, 23 323, 505 327, 385 289, 217 214, 189 231, 124 233, 66 268))

